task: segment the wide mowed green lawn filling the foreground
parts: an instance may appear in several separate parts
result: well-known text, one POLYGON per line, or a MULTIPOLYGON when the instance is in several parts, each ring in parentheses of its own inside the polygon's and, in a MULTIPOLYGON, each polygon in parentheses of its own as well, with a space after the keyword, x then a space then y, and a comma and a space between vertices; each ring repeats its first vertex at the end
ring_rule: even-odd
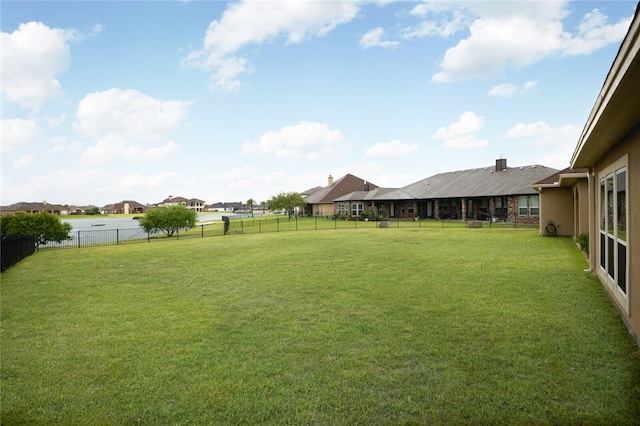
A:
POLYGON ((565 238, 358 229, 37 253, 2 274, 10 424, 638 424, 565 238))

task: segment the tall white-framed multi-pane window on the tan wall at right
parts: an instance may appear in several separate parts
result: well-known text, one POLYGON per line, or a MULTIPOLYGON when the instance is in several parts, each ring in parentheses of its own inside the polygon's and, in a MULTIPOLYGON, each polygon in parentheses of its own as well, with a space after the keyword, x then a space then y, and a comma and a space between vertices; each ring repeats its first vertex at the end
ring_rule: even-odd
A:
POLYGON ((629 313, 627 298, 629 235, 627 232, 627 157, 599 176, 599 276, 629 313))

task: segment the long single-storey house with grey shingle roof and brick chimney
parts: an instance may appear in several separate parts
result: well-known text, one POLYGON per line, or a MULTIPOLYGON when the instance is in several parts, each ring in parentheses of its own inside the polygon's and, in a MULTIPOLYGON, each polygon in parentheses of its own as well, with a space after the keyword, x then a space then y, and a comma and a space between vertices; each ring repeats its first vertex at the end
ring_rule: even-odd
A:
POLYGON ((495 166, 440 173, 402 188, 375 194, 368 204, 391 218, 504 220, 538 223, 539 197, 532 184, 556 169, 495 166))

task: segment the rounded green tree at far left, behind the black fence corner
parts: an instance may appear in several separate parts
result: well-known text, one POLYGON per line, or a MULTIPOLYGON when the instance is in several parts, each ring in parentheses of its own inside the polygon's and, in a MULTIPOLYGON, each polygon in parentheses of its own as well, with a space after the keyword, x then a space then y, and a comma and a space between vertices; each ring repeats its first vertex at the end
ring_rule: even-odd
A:
POLYGON ((62 242, 70 240, 71 225, 61 222, 58 216, 51 213, 19 212, 0 217, 0 234, 4 236, 36 237, 36 248, 50 241, 62 242))

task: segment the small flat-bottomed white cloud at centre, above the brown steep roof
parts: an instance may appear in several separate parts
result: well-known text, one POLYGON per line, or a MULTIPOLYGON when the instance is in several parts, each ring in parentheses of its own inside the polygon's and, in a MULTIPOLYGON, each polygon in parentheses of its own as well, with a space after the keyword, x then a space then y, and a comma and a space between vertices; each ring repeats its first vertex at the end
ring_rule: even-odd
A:
POLYGON ((301 121, 279 131, 265 133, 256 142, 245 142, 242 154, 277 159, 315 160, 338 155, 344 150, 344 136, 326 124, 301 121))

